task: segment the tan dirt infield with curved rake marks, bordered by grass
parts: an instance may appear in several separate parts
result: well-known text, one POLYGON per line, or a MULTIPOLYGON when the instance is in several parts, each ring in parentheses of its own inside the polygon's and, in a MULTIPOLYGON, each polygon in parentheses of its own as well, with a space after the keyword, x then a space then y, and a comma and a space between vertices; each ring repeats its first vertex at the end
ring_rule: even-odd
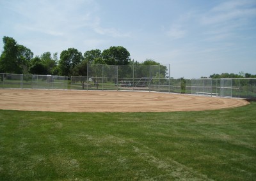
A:
POLYGON ((0 89, 0 109, 47 112, 175 112, 233 108, 241 99, 156 92, 0 89))

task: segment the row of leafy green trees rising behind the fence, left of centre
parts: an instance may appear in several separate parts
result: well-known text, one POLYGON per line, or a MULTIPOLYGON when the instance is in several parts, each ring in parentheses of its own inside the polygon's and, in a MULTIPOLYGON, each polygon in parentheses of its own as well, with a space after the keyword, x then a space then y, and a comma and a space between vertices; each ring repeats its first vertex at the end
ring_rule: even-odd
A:
POLYGON ((82 54, 76 48, 63 50, 58 59, 58 53, 45 52, 35 56, 23 45, 19 45, 12 37, 3 37, 3 52, 0 56, 0 73, 86 76, 87 65, 108 64, 118 66, 129 65, 159 65, 152 59, 136 62, 131 59, 129 51, 121 46, 106 50, 89 50, 82 54))

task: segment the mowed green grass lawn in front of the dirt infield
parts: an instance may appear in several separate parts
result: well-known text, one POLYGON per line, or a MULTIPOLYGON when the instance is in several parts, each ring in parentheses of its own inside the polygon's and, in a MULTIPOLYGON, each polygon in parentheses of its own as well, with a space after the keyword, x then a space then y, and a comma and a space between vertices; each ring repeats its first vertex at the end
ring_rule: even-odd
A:
POLYGON ((255 178, 255 102, 205 112, 0 110, 0 180, 255 178))

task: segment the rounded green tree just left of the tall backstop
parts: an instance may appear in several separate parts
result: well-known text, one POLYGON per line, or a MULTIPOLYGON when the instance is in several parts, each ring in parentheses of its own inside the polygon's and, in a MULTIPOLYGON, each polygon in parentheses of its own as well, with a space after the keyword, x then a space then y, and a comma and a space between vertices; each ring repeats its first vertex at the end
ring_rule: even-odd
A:
POLYGON ((76 48, 68 48, 60 54, 59 69, 60 75, 71 76, 73 69, 83 59, 83 55, 76 48))

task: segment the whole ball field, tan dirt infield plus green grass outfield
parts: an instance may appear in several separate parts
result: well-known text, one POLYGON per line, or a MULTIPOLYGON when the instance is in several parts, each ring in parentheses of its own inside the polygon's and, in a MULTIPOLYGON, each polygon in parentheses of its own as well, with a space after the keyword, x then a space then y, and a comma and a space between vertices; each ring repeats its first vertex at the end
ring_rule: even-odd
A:
POLYGON ((255 180, 256 103, 0 90, 0 180, 255 180))

